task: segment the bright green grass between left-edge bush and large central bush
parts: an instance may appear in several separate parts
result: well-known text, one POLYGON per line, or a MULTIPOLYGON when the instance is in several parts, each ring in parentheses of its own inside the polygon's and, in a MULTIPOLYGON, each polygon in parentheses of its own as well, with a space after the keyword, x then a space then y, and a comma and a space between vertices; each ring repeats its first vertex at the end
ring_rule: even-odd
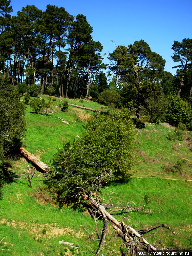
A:
POLYGON ((27 106, 25 119, 27 131, 23 146, 47 164, 57 148, 62 148, 64 142, 72 141, 76 135, 81 136, 84 132, 82 122, 73 110, 66 113, 56 109, 56 113, 45 116, 43 113, 32 113, 32 109, 27 106), (62 123, 58 117, 69 125, 62 123))

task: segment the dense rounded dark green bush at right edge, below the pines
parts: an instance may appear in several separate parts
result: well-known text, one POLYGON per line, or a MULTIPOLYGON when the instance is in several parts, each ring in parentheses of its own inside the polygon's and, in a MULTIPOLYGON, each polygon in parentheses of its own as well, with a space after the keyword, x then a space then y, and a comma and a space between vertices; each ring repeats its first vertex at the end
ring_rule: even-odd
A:
POLYGON ((192 118, 192 110, 190 103, 183 100, 179 95, 169 95, 168 111, 166 115, 166 121, 174 126, 177 126, 180 122, 188 124, 192 118))

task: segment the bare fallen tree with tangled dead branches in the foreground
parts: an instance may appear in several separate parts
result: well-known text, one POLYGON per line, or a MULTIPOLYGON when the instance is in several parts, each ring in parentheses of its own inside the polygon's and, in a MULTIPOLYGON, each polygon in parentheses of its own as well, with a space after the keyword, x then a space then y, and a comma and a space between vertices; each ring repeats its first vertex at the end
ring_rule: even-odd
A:
MULTIPOLYGON (((152 227, 148 229, 135 230, 130 225, 125 224, 123 221, 116 220, 106 209, 114 209, 115 211, 127 210, 128 212, 132 212, 132 211, 151 212, 150 210, 145 209, 144 206, 142 207, 129 206, 129 203, 126 206, 122 206, 122 207, 103 204, 102 203, 103 199, 100 199, 97 196, 92 197, 94 194, 90 194, 90 192, 84 190, 81 187, 78 187, 78 189, 83 191, 82 192, 83 197, 87 201, 87 209, 95 221, 96 233, 98 236, 98 240, 100 241, 99 248, 97 250, 96 255, 98 255, 101 252, 103 243, 105 241, 106 233, 107 233, 108 223, 111 224, 112 228, 115 230, 115 233, 124 240, 124 245, 127 249, 127 252, 130 253, 131 255, 135 255, 136 251, 156 252, 157 250, 160 250, 159 248, 155 247, 156 246, 155 243, 150 244, 143 237, 144 233, 149 233, 150 231, 159 227, 166 227, 175 234, 175 232, 168 225, 158 223, 158 222, 156 222, 152 227), (101 236, 97 228, 98 218, 103 220, 103 230, 102 230, 101 236)), ((87 231, 85 228, 84 230, 87 231)), ((92 236, 92 235, 89 233, 89 236, 92 236)), ((159 243, 160 242, 156 242, 156 244, 159 244, 159 243)))

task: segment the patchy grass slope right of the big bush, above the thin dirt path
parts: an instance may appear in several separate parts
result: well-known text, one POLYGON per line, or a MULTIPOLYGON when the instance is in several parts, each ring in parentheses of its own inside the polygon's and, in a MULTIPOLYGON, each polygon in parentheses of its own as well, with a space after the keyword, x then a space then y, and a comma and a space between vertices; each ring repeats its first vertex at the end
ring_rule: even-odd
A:
MULTIPOLYGON (((192 180, 192 151, 186 145, 185 139, 170 141, 167 138, 169 133, 174 135, 174 128, 147 124, 137 133, 135 143, 140 164, 135 167, 134 176, 192 180), (169 171, 169 167, 174 166, 177 161, 183 162, 182 173, 169 171)), ((184 138, 192 136, 191 132, 182 133, 184 138)))

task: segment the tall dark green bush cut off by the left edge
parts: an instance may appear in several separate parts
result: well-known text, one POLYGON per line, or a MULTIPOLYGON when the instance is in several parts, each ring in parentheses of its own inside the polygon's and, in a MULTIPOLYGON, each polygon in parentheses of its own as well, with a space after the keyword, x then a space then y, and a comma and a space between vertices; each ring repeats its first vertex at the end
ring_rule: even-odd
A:
POLYGON ((17 87, 0 78, 0 158, 9 155, 24 135, 24 109, 17 87))

